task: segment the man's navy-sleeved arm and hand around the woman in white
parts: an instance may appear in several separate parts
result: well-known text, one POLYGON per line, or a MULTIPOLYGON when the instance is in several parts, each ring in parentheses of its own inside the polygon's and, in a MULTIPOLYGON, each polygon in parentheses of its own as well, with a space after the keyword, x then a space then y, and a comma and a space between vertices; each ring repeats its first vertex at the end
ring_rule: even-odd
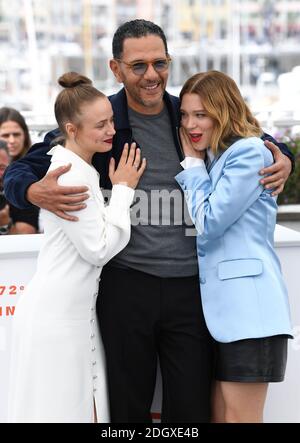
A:
POLYGON ((59 217, 76 221, 77 217, 72 217, 65 211, 78 211, 85 207, 83 201, 88 198, 88 195, 84 194, 87 187, 65 187, 57 184, 58 177, 67 172, 71 165, 61 166, 45 175, 50 166, 50 156, 47 152, 51 142, 58 135, 57 129, 48 132, 43 142, 32 146, 25 157, 7 168, 4 192, 7 200, 16 207, 29 208, 34 204, 59 217))

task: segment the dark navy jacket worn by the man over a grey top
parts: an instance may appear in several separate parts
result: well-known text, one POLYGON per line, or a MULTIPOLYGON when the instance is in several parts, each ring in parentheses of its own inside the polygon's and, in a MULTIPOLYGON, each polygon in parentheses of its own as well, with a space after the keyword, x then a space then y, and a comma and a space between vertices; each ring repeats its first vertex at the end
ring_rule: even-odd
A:
MULTIPOLYGON (((116 134, 113 140, 113 148, 110 152, 100 154, 96 153, 93 157, 93 165, 100 173, 100 185, 105 189, 111 188, 111 183, 108 177, 109 159, 113 156, 116 162, 119 161, 124 144, 131 143, 133 140, 132 130, 128 119, 128 106, 125 89, 121 89, 117 94, 109 97, 114 112, 114 122, 116 134)), ((164 101, 169 112, 172 131, 174 137, 174 144, 178 154, 179 161, 183 160, 183 153, 181 150, 178 127, 180 124, 179 99, 167 92, 164 94, 164 101)), ((59 129, 54 129, 46 134, 44 141, 36 143, 28 151, 28 153, 10 165, 4 176, 4 192, 6 198, 14 206, 19 208, 28 208, 31 204, 26 199, 27 188, 34 182, 40 180, 47 172, 50 166, 51 157, 46 155, 50 150, 51 144, 59 136, 59 129)), ((287 155, 292 164, 294 164, 293 154, 288 150, 284 143, 277 143, 270 135, 264 134, 264 140, 270 140, 276 143, 281 151, 287 155)))

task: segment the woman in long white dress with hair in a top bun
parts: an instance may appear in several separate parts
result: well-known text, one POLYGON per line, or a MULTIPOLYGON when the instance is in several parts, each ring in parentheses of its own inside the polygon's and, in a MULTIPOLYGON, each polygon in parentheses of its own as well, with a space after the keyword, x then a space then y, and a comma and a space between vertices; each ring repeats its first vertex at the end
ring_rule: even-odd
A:
POLYGON ((117 168, 111 160, 113 188, 105 206, 91 161, 95 152, 112 148, 112 107, 84 76, 67 73, 59 84, 64 89, 55 116, 65 143, 48 152, 49 171, 70 163, 59 184, 85 185, 89 198, 74 214, 76 222, 42 210, 37 271, 13 322, 9 422, 109 422, 95 304, 103 265, 129 241, 130 205, 146 161, 135 145, 125 145, 117 168))

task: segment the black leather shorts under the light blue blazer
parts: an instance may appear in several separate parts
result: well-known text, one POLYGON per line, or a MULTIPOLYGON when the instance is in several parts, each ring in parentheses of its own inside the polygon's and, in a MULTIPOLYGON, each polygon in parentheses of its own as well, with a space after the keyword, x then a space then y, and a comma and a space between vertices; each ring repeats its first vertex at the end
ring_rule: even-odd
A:
POLYGON ((215 341, 215 379, 232 382, 280 382, 284 380, 288 335, 215 341))

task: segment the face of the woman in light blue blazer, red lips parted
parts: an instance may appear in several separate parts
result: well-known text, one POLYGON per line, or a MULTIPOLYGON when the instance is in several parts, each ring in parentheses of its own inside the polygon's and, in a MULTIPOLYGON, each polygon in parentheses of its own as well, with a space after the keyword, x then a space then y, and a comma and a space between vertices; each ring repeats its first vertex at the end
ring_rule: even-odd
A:
POLYGON ((184 94, 181 100, 181 125, 186 130, 194 149, 202 151, 210 146, 214 120, 207 115, 198 94, 184 94))

